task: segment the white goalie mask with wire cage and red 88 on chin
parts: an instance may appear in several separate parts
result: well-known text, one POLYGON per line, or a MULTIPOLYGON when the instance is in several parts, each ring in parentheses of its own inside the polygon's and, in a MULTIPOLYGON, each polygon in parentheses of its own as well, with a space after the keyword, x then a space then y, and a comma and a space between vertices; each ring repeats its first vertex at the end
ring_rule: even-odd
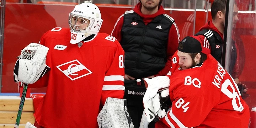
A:
POLYGON ((97 34, 102 21, 100 10, 91 1, 76 5, 69 13, 70 43, 76 44, 92 34, 97 34))

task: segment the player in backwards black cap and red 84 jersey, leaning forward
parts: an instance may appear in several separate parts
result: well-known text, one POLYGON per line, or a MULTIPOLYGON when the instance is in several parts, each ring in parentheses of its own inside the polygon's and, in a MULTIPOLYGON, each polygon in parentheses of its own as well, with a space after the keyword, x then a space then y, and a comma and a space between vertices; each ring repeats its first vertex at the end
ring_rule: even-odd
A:
POLYGON ((145 79, 148 89, 143 103, 145 110, 149 108, 153 112, 151 115, 160 117, 156 128, 248 127, 249 107, 242 100, 234 79, 210 55, 209 47, 203 45, 205 41, 204 36, 185 37, 173 57, 174 66, 169 77, 145 79), (179 60, 174 61, 175 57, 179 60), (169 87, 172 106, 166 115, 164 112, 161 115, 157 112, 160 103, 153 100, 157 91, 152 89, 166 87, 169 87))

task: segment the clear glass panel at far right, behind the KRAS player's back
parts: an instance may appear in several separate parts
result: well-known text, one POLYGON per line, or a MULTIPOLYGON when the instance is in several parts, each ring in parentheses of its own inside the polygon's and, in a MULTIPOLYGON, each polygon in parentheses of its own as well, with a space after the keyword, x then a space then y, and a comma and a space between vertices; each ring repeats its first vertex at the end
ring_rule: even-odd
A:
POLYGON ((225 68, 248 87, 245 101, 251 109, 256 105, 255 0, 235 0, 230 7, 225 68))

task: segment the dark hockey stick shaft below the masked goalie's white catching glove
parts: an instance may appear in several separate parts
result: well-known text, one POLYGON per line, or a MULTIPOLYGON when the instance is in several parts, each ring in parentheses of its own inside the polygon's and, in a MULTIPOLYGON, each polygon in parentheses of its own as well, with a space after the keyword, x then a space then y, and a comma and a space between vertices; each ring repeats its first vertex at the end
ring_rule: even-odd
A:
MULTIPOLYGON (((21 82, 21 84, 23 84, 23 83, 21 82)), ((20 102, 20 106, 19 106, 19 109, 18 109, 18 114, 17 114, 16 123, 15 123, 14 128, 18 128, 19 125, 20 125, 21 113, 22 113, 22 110, 23 110, 23 106, 24 106, 24 102, 25 102, 25 98, 26 98, 26 94, 27 94, 27 86, 28 86, 28 84, 23 84, 21 102, 20 102)))

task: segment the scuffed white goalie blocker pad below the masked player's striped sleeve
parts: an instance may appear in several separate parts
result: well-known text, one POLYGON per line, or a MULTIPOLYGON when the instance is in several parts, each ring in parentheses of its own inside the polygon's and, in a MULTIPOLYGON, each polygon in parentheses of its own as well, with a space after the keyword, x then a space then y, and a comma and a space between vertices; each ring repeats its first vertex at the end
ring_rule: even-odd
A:
POLYGON ((125 99, 108 97, 97 121, 99 128, 134 128, 125 99))

